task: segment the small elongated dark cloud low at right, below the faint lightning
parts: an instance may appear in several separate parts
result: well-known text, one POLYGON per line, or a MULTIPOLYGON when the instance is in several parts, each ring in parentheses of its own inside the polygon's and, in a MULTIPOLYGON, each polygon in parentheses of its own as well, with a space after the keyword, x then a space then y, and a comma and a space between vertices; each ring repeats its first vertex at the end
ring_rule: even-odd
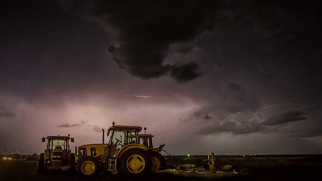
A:
POLYGON ((268 126, 273 126, 273 125, 278 125, 282 123, 300 121, 300 120, 306 119, 305 117, 300 117, 303 114, 304 112, 302 111, 290 111, 279 115, 271 116, 265 122, 263 122, 263 124, 268 126))

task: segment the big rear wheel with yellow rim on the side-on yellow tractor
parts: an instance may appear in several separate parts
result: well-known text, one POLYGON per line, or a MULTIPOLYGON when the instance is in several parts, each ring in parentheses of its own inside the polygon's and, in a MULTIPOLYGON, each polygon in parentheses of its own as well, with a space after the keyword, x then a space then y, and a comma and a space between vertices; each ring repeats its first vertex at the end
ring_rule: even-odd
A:
POLYGON ((149 155, 139 148, 128 149, 122 154, 118 167, 130 177, 144 175, 151 169, 149 155))

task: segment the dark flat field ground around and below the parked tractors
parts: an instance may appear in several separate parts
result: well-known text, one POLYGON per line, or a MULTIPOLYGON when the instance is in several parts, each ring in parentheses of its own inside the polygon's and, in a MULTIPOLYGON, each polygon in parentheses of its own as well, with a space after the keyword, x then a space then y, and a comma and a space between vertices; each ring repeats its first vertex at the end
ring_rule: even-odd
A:
MULTIPOLYGON (((204 156, 176 157, 170 160, 167 157, 167 164, 201 164, 206 159, 204 156)), ((217 157, 216 167, 224 164, 231 164, 237 167, 251 169, 250 178, 224 178, 224 180, 322 180, 322 159, 321 156, 311 157, 217 157)), ((87 180, 79 177, 76 173, 69 174, 65 171, 51 171, 44 175, 37 175, 36 161, 1 161, 0 180, 87 180)), ((117 176, 109 176, 104 172, 93 180, 209 180, 196 177, 181 177, 171 174, 153 174, 142 178, 129 179, 117 176)))

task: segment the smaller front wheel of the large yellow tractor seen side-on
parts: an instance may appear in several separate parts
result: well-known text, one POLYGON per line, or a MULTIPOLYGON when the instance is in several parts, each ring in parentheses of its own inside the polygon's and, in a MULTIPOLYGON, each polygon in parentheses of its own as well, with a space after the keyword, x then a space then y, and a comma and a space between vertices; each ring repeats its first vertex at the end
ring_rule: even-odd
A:
POLYGON ((91 178, 99 174, 100 164, 94 157, 87 156, 79 160, 77 170, 83 177, 91 178))

